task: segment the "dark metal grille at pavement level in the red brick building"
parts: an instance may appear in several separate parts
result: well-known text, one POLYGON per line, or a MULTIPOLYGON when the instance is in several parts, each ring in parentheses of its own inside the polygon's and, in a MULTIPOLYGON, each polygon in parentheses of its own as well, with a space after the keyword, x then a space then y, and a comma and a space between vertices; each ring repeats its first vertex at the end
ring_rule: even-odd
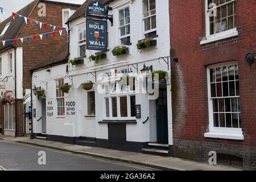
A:
POLYGON ((243 168, 243 159, 227 154, 217 154, 217 164, 243 168))

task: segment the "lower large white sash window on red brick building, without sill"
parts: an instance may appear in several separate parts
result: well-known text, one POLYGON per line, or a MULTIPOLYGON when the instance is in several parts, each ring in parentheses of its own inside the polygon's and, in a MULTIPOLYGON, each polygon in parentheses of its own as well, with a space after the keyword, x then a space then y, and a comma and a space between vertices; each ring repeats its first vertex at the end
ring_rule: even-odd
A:
POLYGON ((208 90, 210 127, 241 129, 238 65, 210 67, 208 90))

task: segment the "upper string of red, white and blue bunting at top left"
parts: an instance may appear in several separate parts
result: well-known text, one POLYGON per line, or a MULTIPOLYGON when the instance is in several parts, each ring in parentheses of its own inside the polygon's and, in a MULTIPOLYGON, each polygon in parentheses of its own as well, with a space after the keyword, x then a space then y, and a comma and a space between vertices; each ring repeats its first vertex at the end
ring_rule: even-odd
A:
MULTIPOLYGON (((16 15, 19 16, 19 20, 22 20, 22 18, 24 18, 24 21, 25 21, 26 24, 27 24, 27 19, 29 20, 29 22, 31 24, 33 24, 33 22, 35 22, 36 27, 38 27, 38 24, 40 25, 40 29, 42 29, 43 24, 44 24, 44 30, 46 30, 47 26, 51 28, 51 31, 55 31, 56 28, 61 28, 64 31, 64 29, 66 28, 66 27, 55 26, 55 25, 48 24, 48 23, 43 23, 43 22, 40 22, 40 21, 35 20, 35 19, 27 18, 26 16, 23 16, 23 15, 20 15, 18 13, 14 13, 13 11, 7 10, 4 7, 0 7, 0 11, 1 11, 2 14, 3 14, 3 11, 9 12, 13 16, 13 19, 15 19, 16 15)), ((67 34, 68 34, 68 28, 67 28, 67 34)))

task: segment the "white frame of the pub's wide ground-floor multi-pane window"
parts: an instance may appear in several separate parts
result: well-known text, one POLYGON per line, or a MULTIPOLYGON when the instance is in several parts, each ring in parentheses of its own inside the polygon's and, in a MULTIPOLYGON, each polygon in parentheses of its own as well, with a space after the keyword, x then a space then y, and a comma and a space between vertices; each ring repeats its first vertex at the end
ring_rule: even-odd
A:
POLYGON ((120 87, 120 83, 116 83, 117 84, 117 89, 115 92, 111 92, 112 86, 114 83, 110 83, 109 84, 109 93, 105 93, 104 96, 104 106, 105 106, 105 114, 104 117, 106 119, 118 119, 118 120, 122 120, 122 119, 136 119, 136 117, 131 117, 131 103, 130 103, 130 97, 131 96, 135 96, 135 91, 134 90, 130 90, 127 89, 127 92, 120 92, 119 90, 121 89, 120 87), (121 107, 120 107, 120 97, 126 97, 127 99, 127 117, 121 117, 121 107), (106 101, 105 99, 109 98, 109 117, 106 117, 106 101), (113 113, 112 113, 112 98, 117 98, 117 117, 113 117, 113 113))

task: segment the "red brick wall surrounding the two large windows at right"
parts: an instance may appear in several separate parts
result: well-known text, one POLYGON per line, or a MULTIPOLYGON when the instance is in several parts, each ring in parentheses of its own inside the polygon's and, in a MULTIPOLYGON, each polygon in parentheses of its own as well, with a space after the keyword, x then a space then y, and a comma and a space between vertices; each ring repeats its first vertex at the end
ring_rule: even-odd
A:
MULTIPOLYGON (((236 1, 238 36, 200 46, 205 37, 205 1, 170 0, 172 108, 174 140, 197 140, 256 146, 256 62, 246 64, 248 51, 256 54, 256 1, 236 1), (206 65, 238 61, 242 113, 242 141, 207 139, 208 91, 206 65)), ((178 145, 178 143, 174 143, 178 145)))

